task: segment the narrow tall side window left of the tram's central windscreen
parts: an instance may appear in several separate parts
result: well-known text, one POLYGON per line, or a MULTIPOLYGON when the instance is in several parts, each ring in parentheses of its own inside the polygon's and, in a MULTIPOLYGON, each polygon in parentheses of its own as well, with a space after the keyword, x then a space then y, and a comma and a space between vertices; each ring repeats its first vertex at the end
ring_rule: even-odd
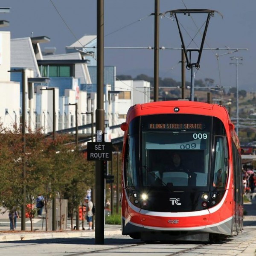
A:
POLYGON ((130 136, 127 148, 126 148, 126 186, 134 187, 137 186, 137 175, 136 175, 136 138, 130 136))

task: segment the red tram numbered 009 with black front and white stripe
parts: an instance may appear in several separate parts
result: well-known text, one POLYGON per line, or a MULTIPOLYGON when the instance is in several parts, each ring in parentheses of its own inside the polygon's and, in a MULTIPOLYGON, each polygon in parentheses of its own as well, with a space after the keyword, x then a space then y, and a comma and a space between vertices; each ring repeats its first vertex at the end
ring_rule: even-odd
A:
POLYGON ((211 241, 242 231, 240 145, 226 108, 138 104, 121 128, 123 235, 211 241), (172 168, 177 154, 182 168, 172 168))

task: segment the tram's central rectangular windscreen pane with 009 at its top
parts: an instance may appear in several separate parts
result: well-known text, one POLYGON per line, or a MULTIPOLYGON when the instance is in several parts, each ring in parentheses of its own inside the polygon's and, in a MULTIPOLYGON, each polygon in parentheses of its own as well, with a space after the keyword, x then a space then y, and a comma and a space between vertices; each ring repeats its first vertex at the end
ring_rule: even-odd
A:
POLYGON ((209 132, 143 132, 144 186, 207 186, 209 132))

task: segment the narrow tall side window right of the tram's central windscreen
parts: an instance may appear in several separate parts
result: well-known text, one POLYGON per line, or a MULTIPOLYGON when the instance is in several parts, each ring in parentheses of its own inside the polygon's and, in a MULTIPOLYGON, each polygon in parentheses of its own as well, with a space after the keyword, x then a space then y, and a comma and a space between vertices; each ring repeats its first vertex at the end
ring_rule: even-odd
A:
POLYGON ((228 154, 226 137, 215 137, 215 165, 213 186, 217 189, 224 189, 227 181, 228 154))

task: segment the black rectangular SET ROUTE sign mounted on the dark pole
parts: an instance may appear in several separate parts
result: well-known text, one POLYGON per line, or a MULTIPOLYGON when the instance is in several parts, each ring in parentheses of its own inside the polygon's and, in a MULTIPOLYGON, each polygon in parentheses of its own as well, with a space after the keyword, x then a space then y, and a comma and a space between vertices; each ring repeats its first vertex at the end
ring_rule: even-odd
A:
POLYGON ((87 160, 112 160, 112 143, 111 142, 88 142, 87 143, 87 160))

